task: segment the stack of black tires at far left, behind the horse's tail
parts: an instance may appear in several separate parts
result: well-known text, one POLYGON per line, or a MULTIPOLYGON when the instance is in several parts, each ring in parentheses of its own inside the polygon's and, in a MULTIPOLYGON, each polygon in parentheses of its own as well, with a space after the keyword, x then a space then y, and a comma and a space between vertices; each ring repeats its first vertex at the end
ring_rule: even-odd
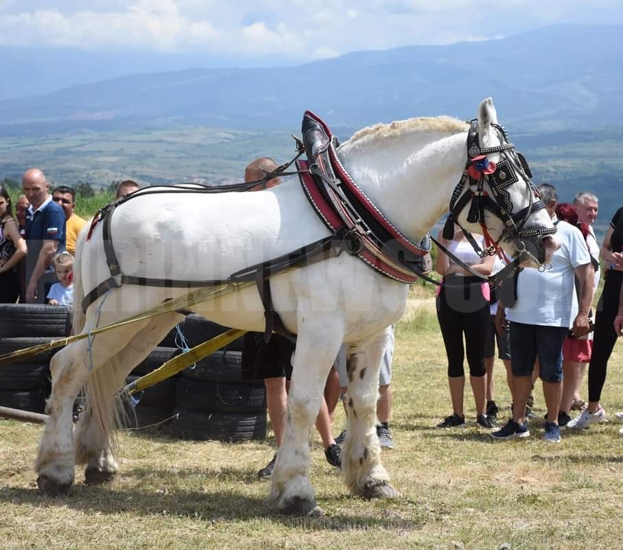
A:
MULTIPOLYGON (((0 304, 0 355, 64 338, 69 309, 39 304, 0 304)), ((49 397, 49 360, 60 348, 0 365, 0 406, 43 412, 49 397)))

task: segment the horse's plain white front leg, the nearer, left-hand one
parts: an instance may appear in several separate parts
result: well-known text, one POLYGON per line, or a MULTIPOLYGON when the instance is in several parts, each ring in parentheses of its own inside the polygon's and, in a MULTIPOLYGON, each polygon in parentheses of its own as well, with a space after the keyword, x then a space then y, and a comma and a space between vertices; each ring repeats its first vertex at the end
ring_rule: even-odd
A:
POLYGON ((286 514, 315 516, 322 511, 309 481, 309 433, 341 346, 341 334, 309 319, 303 326, 297 338, 284 441, 277 452, 269 500, 286 514))

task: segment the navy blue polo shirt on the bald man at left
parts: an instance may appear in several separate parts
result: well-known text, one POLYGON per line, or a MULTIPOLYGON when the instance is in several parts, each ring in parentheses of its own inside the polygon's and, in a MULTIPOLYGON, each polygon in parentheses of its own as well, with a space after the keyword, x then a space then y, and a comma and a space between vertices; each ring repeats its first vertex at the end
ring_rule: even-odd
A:
POLYGON ((32 207, 26 210, 26 281, 37 263, 43 241, 58 241, 56 252, 65 250, 65 212, 49 197, 34 212, 32 207))

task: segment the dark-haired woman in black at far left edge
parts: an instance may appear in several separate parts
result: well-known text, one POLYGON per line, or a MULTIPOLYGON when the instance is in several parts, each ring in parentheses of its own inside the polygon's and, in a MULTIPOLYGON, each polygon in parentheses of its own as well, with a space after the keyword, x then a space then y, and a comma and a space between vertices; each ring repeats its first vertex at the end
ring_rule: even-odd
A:
POLYGON ((0 303, 14 304, 19 296, 19 278, 14 269, 26 256, 26 241, 13 217, 11 197, 0 185, 0 303))

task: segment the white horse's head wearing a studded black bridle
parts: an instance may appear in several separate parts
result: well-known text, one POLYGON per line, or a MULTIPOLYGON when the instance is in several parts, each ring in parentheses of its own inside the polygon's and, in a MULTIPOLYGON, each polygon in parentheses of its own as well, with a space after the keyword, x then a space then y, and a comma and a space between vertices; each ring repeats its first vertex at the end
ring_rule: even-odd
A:
POLYGON ((499 246, 521 265, 550 261, 559 244, 556 227, 539 199, 530 168, 508 142, 491 98, 478 109, 467 138, 467 163, 453 194, 453 218, 468 231, 482 233, 488 247, 499 246))

